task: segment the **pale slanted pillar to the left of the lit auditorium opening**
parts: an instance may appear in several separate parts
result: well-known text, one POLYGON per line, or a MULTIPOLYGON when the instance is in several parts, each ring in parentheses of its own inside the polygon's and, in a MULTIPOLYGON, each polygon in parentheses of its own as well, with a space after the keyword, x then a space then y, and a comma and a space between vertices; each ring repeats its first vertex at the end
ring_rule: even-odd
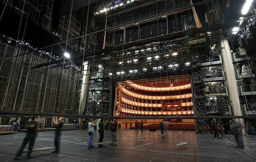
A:
POLYGON ((83 82, 82 82, 82 89, 81 89, 81 96, 80 96, 80 104, 79 104, 79 114, 83 114, 84 107, 86 104, 87 99, 87 92, 88 92, 88 82, 89 82, 89 74, 90 74, 90 64, 88 61, 84 63, 84 73, 83 73, 83 82))

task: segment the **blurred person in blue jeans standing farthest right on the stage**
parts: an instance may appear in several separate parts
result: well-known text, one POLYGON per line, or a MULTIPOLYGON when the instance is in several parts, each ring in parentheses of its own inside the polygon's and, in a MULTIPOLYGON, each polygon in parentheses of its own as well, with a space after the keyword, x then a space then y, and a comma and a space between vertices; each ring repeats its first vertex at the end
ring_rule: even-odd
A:
POLYGON ((236 139, 236 148, 244 149, 244 141, 242 137, 242 129, 244 129, 244 126, 241 122, 238 122, 236 119, 232 119, 232 121, 232 133, 236 139))

